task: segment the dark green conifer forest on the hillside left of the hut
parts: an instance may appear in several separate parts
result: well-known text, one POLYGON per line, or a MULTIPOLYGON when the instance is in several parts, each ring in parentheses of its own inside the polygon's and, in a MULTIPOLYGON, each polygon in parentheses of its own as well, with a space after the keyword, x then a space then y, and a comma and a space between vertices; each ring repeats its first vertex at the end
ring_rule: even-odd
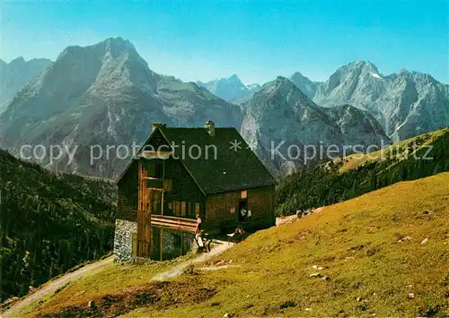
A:
POLYGON ((115 186, 0 150, 0 298, 22 296, 112 249, 115 186))

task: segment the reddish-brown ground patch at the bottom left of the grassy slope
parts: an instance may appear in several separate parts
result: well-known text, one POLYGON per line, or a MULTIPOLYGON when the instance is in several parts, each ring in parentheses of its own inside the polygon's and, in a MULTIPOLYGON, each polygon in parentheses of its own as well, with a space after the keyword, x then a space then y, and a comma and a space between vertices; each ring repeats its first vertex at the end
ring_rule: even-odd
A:
POLYGON ((139 288, 128 288, 116 294, 93 298, 92 305, 77 304, 49 308, 37 317, 115 317, 147 305, 166 309, 172 305, 204 302, 216 295, 214 288, 185 282, 152 282, 139 288))

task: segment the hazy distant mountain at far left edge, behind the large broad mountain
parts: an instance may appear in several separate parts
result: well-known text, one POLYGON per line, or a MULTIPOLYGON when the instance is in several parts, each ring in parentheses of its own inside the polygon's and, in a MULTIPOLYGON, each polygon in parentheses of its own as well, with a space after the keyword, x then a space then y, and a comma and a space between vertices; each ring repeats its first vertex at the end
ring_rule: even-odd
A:
POLYGON ((46 58, 25 61, 22 56, 9 64, 0 59, 0 113, 4 109, 2 106, 13 98, 23 85, 30 82, 36 74, 45 70, 51 63, 46 58))

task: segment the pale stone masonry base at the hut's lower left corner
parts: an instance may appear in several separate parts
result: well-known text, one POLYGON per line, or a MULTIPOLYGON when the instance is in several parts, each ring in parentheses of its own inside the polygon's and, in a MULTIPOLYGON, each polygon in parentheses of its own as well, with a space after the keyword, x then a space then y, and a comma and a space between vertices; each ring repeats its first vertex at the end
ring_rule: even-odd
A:
POLYGON ((114 260, 133 262, 133 233, 137 233, 137 223, 116 219, 114 235, 114 260))

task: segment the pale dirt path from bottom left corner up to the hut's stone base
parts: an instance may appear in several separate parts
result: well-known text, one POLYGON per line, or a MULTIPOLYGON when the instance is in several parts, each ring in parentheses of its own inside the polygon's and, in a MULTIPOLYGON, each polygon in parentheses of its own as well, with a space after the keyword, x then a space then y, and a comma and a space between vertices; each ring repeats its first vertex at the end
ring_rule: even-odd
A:
POLYGON ((23 297, 17 303, 12 305, 9 309, 7 309, 3 313, 1 313, 0 317, 2 317, 2 318, 18 317, 18 315, 17 314, 14 315, 14 313, 20 312, 27 305, 31 305, 32 303, 34 303, 35 301, 38 301, 40 298, 48 295, 49 293, 55 292, 57 290, 57 288, 62 288, 64 285, 66 285, 70 281, 79 279, 87 271, 92 272, 92 271, 101 270, 104 266, 108 265, 112 261, 113 261, 113 256, 110 256, 108 258, 105 258, 104 260, 101 260, 100 262, 92 262, 92 264, 87 264, 76 271, 72 271, 64 276, 61 276, 58 279, 49 281, 42 288, 39 288, 34 293, 32 293, 30 296, 23 297))

